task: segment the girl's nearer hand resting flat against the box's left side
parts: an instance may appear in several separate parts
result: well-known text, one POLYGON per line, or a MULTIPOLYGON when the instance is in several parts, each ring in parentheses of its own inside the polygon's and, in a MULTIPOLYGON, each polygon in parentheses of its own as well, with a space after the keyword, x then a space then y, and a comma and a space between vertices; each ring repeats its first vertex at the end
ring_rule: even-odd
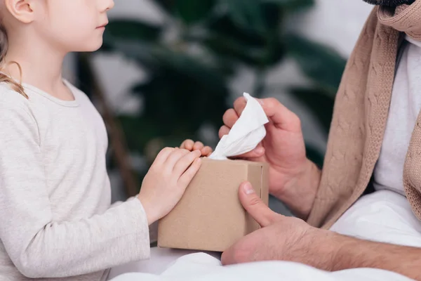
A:
POLYGON ((201 151, 164 148, 142 182, 138 199, 149 225, 166 216, 180 201, 201 165, 201 151))

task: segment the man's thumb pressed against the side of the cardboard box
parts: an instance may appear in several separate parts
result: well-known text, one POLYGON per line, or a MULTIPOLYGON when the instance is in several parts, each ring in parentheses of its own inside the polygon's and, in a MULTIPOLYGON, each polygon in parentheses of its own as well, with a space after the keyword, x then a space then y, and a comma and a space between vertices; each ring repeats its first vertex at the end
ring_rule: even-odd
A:
POLYGON ((262 227, 269 226, 276 221, 278 216, 282 216, 269 209, 260 197, 258 197, 253 189, 253 186, 251 186, 251 184, 247 181, 241 183, 239 188, 239 197, 244 209, 246 209, 248 214, 253 216, 255 221, 257 221, 262 227))

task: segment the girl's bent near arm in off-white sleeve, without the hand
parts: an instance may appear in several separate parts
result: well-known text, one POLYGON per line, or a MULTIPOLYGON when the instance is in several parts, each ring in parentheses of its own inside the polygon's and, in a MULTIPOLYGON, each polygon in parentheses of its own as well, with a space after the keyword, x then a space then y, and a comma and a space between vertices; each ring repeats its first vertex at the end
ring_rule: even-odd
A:
POLYGON ((0 240, 27 277, 92 273, 149 257, 149 228, 138 198, 104 214, 54 221, 35 120, 0 105, 0 240))

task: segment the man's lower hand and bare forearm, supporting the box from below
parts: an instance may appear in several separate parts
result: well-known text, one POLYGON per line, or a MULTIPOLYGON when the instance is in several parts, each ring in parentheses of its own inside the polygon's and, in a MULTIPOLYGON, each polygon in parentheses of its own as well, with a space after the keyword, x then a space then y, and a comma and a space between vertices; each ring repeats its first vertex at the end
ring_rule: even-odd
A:
POLYGON ((299 218, 276 214, 253 192, 239 188, 241 204, 262 226, 222 254, 222 264, 294 261, 322 270, 380 268, 421 280, 421 249, 359 240, 313 228, 299 218))

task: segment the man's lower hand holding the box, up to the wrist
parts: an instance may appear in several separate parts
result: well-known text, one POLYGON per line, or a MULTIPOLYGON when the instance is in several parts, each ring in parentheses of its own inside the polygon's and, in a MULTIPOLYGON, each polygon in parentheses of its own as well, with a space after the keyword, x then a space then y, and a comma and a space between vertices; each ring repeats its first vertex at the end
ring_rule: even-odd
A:
POLYGON ((300 218, 276 214, 255 194, 250 183, 239 188, 241 204, 262 228, 250 233, 222 254, 222 264, 250 261, 298 261, 306 259, 307 247, 319 230, 300 218))

